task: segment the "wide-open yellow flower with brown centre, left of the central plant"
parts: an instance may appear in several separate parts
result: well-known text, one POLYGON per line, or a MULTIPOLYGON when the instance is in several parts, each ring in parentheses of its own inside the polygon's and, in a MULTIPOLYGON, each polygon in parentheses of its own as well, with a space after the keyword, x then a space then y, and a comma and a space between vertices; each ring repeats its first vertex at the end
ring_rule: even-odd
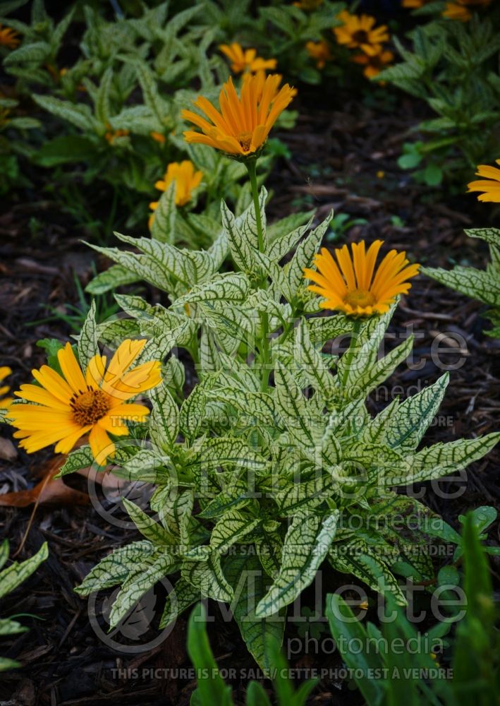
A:
POLYGON ((56 453, 69 453, 78 439, 89 433, 94 459, 104 465, 114 455, 115 445, 108 434, 128 436, 125 421, 145 421, 150 410, 145 405, 125 404, 131 397, 161 382, 160 361, 142 363, 130 370, 146 340, 125 340, 106 369, 106 356, 95 355, 85 375, 70 343, 57 357, 62 375, 44 365, 33 370, 39 385, 21 385, 15 395, 35 404, 11 405, 8 419, 28 453, 55 443, 56 453))

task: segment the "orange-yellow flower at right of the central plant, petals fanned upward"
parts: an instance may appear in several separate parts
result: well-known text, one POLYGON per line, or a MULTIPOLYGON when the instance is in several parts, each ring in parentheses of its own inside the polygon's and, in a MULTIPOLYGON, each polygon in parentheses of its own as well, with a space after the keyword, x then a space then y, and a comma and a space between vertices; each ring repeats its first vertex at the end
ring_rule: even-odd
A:
POLYGON ((408 292, 411 285, 406 280, 417 275, 420 265, 410 265, 406 253, 391 250, 374 271, 382 243, 374 241, 367 251, 364 241, 353 243, 352 256, 344 245, 335 250, 336 261, 322 248, 315 257, 316 270, 304 270, 304 277, 316 283, 307 289, 324 297, 319 304, 322 309, 372 316, 385 313, 398 294, 408 292))

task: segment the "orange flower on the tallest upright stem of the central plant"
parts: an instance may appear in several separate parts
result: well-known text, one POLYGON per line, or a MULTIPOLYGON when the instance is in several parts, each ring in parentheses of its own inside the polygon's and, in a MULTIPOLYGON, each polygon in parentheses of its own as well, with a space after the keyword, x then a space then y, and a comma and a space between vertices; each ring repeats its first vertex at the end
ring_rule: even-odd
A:
POLYGON ((211 122, 192 110, 183 110, 183 118, 202 129, 202 132, 186 131, 186 142, 210 145, 237 157, 254 155, 293 98, 293 88, 288 83, 278 91, 280 81, 281 76, 273 74, 267 76, 262 86, 262 79, 252 76, 243 82, 238 97, 233 79, 229 78, 219 93, 220 112, 200 96, 194 104, 211 122))

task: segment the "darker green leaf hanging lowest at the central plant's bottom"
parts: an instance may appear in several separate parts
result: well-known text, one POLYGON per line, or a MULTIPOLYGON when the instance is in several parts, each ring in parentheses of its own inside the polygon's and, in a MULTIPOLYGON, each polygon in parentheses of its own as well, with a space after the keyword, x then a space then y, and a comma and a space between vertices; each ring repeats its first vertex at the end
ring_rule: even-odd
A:
POLYGON ((269 618, 255 617, 255 606, 264 597, 269 583, 255 554, 229 556, 224 570, 233 587, 231 610, 241 637, 255 662, 270 673, 276 665, 272 659, 273 652, 269 650, 269 638, 276 640, 278 645, 283 642, 286 611, 282 609, 269 618))

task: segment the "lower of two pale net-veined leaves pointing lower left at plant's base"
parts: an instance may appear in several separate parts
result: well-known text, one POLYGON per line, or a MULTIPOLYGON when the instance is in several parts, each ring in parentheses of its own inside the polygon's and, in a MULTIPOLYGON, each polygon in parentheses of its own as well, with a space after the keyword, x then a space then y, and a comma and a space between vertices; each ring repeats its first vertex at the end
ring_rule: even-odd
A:
POLYGON ((154 584, 176 569, 173 557, 166 552, 155 552, 136 564, 121 585, 109 614, 111 628, 118 625, 136 603, 154 584))

